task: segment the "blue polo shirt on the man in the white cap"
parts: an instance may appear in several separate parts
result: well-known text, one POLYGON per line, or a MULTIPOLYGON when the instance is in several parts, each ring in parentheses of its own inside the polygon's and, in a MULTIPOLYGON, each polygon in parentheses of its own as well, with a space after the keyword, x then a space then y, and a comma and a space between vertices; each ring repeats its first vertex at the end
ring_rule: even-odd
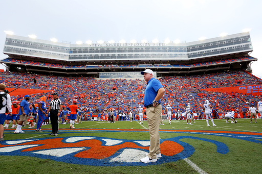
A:
MULTIPOLYGON (((146 85, 145 88, 145 97, 144 97, 144 107, 148 105, 152 105, 153 101, 155 100, 157 96, 157 91, 163 88, 163 85, 159 82, 159 80, 155 78, 151 78, 146 85)), ((161 103, 161 100, 159 100, 159 104, 161 103)))

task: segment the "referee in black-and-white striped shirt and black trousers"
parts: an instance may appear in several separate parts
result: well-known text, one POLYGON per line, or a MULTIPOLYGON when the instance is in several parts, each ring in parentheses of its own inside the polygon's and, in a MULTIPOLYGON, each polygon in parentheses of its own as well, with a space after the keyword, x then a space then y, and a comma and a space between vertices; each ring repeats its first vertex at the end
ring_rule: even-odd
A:
POLYGON ((50 135, 57 136, 58 133, 58 119, 62 111, 62 101, 58 98, 58 93, 52 93, 54 100, 51 101, 51 104, 48 108, 47 115, 50 112, 50 120, 52 125, 52 133, 50 135))

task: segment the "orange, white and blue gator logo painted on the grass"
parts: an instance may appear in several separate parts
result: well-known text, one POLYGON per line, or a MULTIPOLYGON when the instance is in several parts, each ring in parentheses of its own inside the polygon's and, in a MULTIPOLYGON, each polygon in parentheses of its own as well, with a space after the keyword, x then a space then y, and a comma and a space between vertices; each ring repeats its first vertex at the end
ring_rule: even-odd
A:
POLYGON ((217 153, 227 154, 228 147, 214 140, 192 136, 179 136, 160 140, 162 158, 157 163, 141 163, 149 151, 148 140, 122 140, 101 137, 59 137, 10 140, 0 144, 0 155, 31 156, 70 164, 94 166, 154 165, 188 158, 194 147, 181 139, 197 139, 214 143, 217 153))

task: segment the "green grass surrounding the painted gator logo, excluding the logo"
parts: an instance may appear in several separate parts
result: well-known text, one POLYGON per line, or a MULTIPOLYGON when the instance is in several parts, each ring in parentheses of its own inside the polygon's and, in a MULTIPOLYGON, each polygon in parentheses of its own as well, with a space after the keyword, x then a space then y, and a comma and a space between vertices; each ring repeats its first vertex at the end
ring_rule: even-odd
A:
MULTIPOLYGON (((262 155, 262 121, 250 123, 249 119, 238 119, 236 124, 226 123, 224 119, 214 120, 216 127, 207 127, 205 120, 196 120, 193 125, 187 125, 185 120, 163 121, 160 125, 160 138, 180 138, 179 141, 191 145, 194 152, 188 159, 206 173, 262 173, 260 158, 262 155), (170 132, 175 130, 176 132, 170 132), (181 130, 181 131, 180 131, 181 130), (195 133, 195 130, 200 132, 195 133), (182 132, 185 131, 185 132, 182 132), (201 131, 211 131, 211 134, 201 131), (217 131, 224 131, 223 134, 217 131), (234 131, 235 134, 232 134, 234 131), (238 134, 246 132, 247 135, 238 134), (260 134, 257 134, 260 133, 260 134), (226 134, 226 135, 225 135, 226 134), (252 136, 250 138, 250 136, 252 136), (208 141, 205 141, 208 140, 208 141), (209 141, 210 140, 210 141, 209 141), (228 153, 220 154, 212 141, 224 143, 228 153)), ((211 125, 211 121, 209 121, 211 125)), ((77 130, 70 130, 69 125, 59 125, 57 137, 49 135, 51 126, 43 126, 44 132, 24 129, 24 134, 14 134, 13 130, 5 130, 4 140, 59 138, 76 136, 94 136, 123 140, 149 140, 148 125, 144 121, 141 126, 137 121, 117 121, 107 123, 103 121, 83 121, 75 125, 77 130), (113 130, 112 130, 113 129, 113 130)), ((5 142, 4 141, 4 142, 5 142)), ((176 147, 173 147, 176 148, 176 147)), ((1 149, 1 148, 0 148, 1 149)), ((163 150, 162 150, 163 151, 163 150)), ((162 152, 163 153, 163 152, 162 152)), ((84 159, 89 160, 89 159, 84 159)), ((165 158, 159 159, 159 161, 165 158)), ((157 161, 157 163, 159 162, 157 161)), ((30 156, 12 156, 0 153, 0 171, 5 173, 199 173, 186 161, 167 160, 162 164, 142 166, 93 166, 69 164, 67 162, 41 159, 30 156)))

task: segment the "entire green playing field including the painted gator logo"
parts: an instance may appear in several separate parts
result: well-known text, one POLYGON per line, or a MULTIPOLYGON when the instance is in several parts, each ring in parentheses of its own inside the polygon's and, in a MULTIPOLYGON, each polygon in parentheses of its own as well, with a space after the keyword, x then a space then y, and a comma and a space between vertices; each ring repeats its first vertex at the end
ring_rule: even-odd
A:
MULTIPOLYGON (((230 121, 229 121, 230 122, 230 121)), ((0 145, 2 173, 262 173, 262 120, 237 123, 214 120, 163 120, 161 154, 155 163, 141 163, 148 152, 147 121, 82 121, 69 129, 59 125, 43 132, 26 129, 14 134, 5 129, 0 145), (209 120, 209 125, 212 125, 209 120), (19 149, 18 149, 19 148, 19 149), (51 152, 52 150, 52 152, 51 152)))

